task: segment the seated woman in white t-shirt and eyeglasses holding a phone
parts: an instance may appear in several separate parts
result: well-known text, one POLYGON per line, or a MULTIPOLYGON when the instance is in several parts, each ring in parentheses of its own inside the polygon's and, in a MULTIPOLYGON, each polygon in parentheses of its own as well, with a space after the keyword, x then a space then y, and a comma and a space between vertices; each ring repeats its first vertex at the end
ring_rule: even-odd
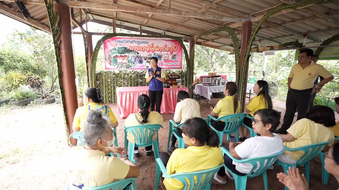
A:
MULTIPOLYGON (((258 110, 254 113, 252 126, 260 136, 248 138, 242 143, 230 142, 229 146, 225 148, 235 159, 264 157, 278 153, 283 149, 283 143, 279 135, 273 132, 279 123, 280 114, 276 110, 258 110)), ((233 173, 240 176, 245 176, 253 169, 251 164, 236 163, 227 155, 224 155, 224 164, 233 173)), ((226 174, 231 180, 234 180, 233 176, 223 167, 214 175, 214 179, 221 184, 226 184, 226 174)))

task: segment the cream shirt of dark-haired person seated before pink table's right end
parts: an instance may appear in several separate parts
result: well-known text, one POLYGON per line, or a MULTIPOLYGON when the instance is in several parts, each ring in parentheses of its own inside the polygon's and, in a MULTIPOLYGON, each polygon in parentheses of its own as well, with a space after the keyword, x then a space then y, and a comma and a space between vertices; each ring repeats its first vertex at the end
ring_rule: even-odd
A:
POLYGON ((186 98, 177 103, 175 107, 173 120, 175 122, 184 123, 187 119, 194 117, 201 117, 200 105, 197 100, 192 98, 186 98))

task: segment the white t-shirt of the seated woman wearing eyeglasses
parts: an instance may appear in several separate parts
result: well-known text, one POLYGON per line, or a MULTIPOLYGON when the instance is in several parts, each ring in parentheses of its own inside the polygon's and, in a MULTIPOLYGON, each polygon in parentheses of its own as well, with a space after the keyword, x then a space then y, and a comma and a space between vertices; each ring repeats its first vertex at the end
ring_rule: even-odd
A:
MULTIPOLYGON (((243 158, 255 158, 273 155, 280 152, 284 146, 278 134, 273 134, 274 137, 255 136, 246 139, 243 143, 235 147, 237 154, 243 158)), ((248 163, 236 163, 233 161, 236 170, 241 173, 250 173, 253 166, 248 163)))

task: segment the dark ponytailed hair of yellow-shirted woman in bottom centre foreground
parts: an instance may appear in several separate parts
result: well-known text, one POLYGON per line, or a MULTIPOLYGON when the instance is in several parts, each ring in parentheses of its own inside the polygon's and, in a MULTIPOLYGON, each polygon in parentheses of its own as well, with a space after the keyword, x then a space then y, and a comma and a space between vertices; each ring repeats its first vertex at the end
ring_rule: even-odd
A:
POLYGON ((208 127, 205 120, 200 117, 187 119, 182 127, 182 133, 190 138, 195 138, 201 145, 207 144, 211 147, 219 147, 217 133, 208 127))

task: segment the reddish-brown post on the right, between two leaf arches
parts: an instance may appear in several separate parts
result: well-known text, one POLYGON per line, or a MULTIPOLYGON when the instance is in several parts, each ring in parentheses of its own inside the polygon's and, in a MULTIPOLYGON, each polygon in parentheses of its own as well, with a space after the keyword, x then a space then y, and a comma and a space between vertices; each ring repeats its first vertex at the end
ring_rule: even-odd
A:
MULTIPOLYGON (((240 67, 238 75, 241 76, 241 68, 246 67, 246 76, 244 82, 244 96, 243 96, 243 104, 242 111, 245 109, 245 100, 246 100, 246 88, 247 88, 247 74, 248 74, 248 61, 246 65, 243 65, 243 60, 245 56, 245 51, 248 45, 248 41, 250 40, 252 33, 252 21, 246 21, 242 23, 242 35, 241 35, 241 48, 240 48, 240 67)), ((240 77, 239 77, 240 78, 240 77)))

